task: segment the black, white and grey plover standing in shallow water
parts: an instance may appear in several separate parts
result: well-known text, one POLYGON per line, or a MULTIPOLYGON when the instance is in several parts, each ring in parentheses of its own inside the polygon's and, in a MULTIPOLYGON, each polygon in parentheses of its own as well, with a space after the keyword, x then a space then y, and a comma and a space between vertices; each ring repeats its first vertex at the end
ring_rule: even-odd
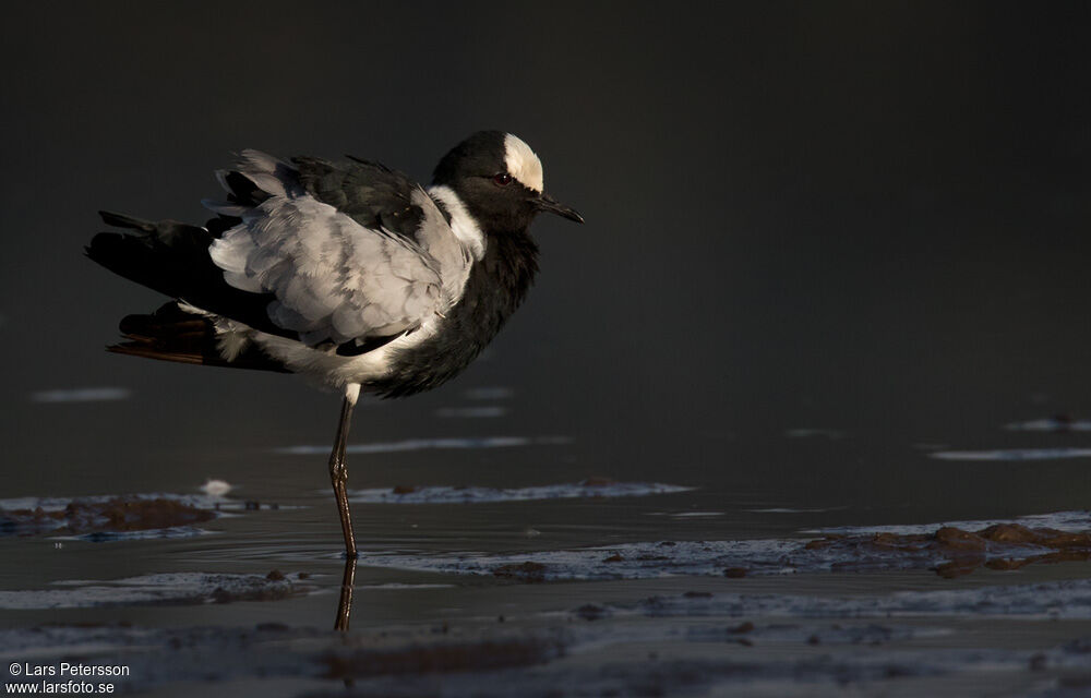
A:
POLYGON ((168 302, 120 322, 120 354, 295 373, 343 395, 329 478, 357 557, 345 448, 361 393, 406 397, 461 372, 538 273, 538 214, 583 217, 544 191, 519 137, 479 131, 428 186, 377 161, 238 154, 204 226, 99 212, 85 253, 168 302))

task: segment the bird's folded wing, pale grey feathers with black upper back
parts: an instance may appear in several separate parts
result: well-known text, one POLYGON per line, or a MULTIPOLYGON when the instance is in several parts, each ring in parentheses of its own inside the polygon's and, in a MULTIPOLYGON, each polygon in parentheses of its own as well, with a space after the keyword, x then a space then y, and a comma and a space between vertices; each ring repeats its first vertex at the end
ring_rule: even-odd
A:
POLYGON ((269 293, 272 322, 316 347, 359 353, 442 314, 471 257, 435 202, 404 174, 357 160, 243 151, 220 173, 235 225, 212 243, 228 285, 269 293))

